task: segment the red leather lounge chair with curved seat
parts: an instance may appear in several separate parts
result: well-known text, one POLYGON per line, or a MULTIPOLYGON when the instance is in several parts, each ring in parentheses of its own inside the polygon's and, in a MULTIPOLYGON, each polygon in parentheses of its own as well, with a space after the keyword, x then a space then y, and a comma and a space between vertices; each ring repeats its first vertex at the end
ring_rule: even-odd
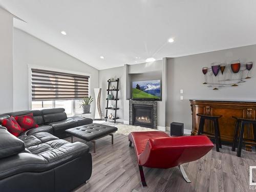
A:
POLYGON ((146 186, 142 166, 179 166, 186 182, 191 182, 181 164, 200 159, 214 147, 206 136, 170 137, 160 131, 132 132, 129 134, 129 141, 129 146, 134 145, 142 186, 146 186))

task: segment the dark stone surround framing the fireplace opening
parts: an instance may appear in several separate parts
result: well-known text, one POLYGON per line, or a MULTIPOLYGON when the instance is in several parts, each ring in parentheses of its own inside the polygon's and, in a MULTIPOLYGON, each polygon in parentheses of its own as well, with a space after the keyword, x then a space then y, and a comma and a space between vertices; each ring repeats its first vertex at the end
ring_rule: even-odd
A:
POLYGON ((129 124, 133 124, 133 105, 152 105, 153 106, 153 129, 157 129, 157 101, 129 100, 129 124))

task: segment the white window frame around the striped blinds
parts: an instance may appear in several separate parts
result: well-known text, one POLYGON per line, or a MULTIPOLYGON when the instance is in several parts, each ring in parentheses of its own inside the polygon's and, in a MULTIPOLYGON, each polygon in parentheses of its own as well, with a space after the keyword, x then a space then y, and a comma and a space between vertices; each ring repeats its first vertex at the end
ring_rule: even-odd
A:
MULTIPOLYGON (((89 76, 89 91, 88 95, 91 95, 91 76, 92 74, 89 73, 81 73, 81 72, 76 72, 76 71, 67 71, 67 70, 61 70, 57 68, 49 68, 49 67, 43 67, 43 66, 35 66, 35 65, 28 65, 28 96, 29 96, 29 110, 32 110, 32 89, 31 89, 31 84, 32 84, 32 72, 31 69, 41 69, 41 70, 49 70, 49 71, 56 71, 56 72, 62 72, 62 73, 72 73, 76 75, 84 75, 84 76, 89 76)), ((65 100, 65 99, 64 99, 65 100)), ((81 100, 81 99, 76 99, 76 100, 81 100)), ((72 116, 76 116, 79 114, 75 113, 75 101, 72 100, 72 116)), ((55 100, 53 100, 52 106, 55 108, 55 100)))

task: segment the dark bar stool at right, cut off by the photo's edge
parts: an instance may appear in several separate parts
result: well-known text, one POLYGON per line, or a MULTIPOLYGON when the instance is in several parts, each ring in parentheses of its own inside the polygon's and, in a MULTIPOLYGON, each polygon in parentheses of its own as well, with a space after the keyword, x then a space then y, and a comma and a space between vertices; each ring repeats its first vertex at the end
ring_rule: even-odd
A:
MULTIPOLYGON (((236 145, 238 142, 238 151, 237 156, 241 157, 241 151, 242 151, 242 145, 244 143, 250 143, 250 144, 256 144, 256 119, 246 119, 246 118, 238 118, 232 116, 234 119, 237 120, 236 123, 236 129, 234 130, 234 137, 233 137, 233 144, 232 144, 232 151, 236 151, 236 145), (240 132, 239 132, 239 126, 241 124, 240 132), (244 125, 245 124, 252 124, 253 127, 253 139, 246 139, 247 141, 244 141, 244 125), (238 138, 239 136, 239 138, 238 138), (254 142, 249 142, 254 141, 254 142)), ((249 127, 249 126, 248 126, 249 127)))

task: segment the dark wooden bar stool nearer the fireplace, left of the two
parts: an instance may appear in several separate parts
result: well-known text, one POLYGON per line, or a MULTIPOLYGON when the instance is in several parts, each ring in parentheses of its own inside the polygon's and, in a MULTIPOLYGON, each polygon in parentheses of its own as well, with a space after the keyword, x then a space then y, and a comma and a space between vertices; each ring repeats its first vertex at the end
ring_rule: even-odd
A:
POLYGON ((220 152, 220 148, 222 148, 222 145, 221 145, 221 135, 220 135, 220 130, 219 130, 218 119, 221 118, 222 115, 209 116, 209 115, 203 115, 203 114, 198 113, 197 116, 200 116, 198 135, 206 135, 208 137, 215 138, 216 151, 220 152), (208 133, 203 132, 205 119, 208 119, 208 120, 211 120, 214 122, 214 135, 210 135, 208 133))

